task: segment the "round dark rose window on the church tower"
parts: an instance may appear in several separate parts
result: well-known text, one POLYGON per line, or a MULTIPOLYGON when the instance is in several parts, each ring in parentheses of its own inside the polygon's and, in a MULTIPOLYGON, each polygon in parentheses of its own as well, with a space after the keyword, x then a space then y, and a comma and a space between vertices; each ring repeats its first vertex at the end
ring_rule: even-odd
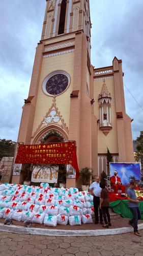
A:
POLYGON ((55 74, 46 82, 46 92, 49 95, 59 95, 68 87, 69 79, 64 74, 55 74))

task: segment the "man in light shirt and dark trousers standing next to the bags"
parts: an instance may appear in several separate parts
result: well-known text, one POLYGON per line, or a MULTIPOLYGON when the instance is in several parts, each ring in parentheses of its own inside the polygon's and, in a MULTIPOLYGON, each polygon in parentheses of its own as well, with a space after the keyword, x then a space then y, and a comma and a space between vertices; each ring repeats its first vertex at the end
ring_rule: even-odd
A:
MULTIPOLYGON (((100 205, 100 192, 101 192, 101 187, 99 185, 100 178, 97 176, 95 178, 95 182, 93 182, 90 185, 91 193, 93 195, 93 205, 94 205, 94 214, 95 214, 95 224, 98 224, 99 219, 98 219, 98 209, 100 205)), ((100 224, 103 225, 103 216, 102 216, 102 210, 99 209, 99 215, 100 215, 100 224)))

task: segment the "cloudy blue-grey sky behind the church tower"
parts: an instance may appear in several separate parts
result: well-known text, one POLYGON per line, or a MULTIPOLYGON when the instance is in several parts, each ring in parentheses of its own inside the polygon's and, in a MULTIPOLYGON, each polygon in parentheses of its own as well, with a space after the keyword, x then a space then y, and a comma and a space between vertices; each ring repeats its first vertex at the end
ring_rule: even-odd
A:
MULTIPOLYGON (((17 140, 45 5, 45 0, 0 1, 1 139, 17 140)), ((135 139, 143 130, 143 1, 90 0, 90 6, 92 64, 106 67, 114 56, 122 59, 126 112, 134 119, 135 139)))

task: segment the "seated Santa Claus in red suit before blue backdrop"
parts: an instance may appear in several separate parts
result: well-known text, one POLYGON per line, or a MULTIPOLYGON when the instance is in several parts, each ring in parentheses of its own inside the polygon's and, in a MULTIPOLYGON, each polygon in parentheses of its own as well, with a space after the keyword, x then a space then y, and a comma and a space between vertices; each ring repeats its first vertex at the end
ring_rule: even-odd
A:
POLYGON ((117 175, 118 172, 115 170, 114 175, 110 178, 111 188, 114 189, 116 195, 118 195, 118 189, 122 190, 122 194, 125 194, 126 186, 122 185, 121 179, 117 175))

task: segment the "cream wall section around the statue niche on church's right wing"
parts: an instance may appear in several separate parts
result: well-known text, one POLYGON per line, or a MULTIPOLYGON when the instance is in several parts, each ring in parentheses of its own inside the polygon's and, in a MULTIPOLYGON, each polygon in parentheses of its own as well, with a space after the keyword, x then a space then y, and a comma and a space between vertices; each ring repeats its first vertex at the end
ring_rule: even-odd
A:
MULTIPOLYGON (((113 78, 105 81, 108 92, 111 94, 111 123, 112 129, 105 136, 99 129, 98 123, 98 154, 106 154, 107 147, 111 153, 118 153, 118 138, 117 138, 117 120, 116 120, 116 106, 115 106, 115 90, 113 78)), ((98 95, 101 93, 103 80, 94 81, 94 114, 99 119, 99 103, 98 95)))

